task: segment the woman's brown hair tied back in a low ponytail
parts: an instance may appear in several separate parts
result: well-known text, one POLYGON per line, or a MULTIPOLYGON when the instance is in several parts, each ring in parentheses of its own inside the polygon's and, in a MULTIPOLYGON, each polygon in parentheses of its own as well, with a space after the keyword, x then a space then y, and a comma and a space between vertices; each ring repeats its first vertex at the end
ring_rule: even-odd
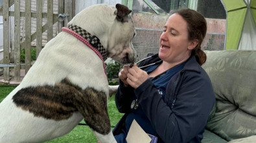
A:
POLYGON ((201 49, 201 44, 207 31, 207 23, 204 16, 195 10, 189 8, 181 8, 178 10, 171 10, 170 15, 179 14, 185 21, 187 21, 187 30, 189 33, 189 41, 198 40, 198 45, 192 50, 191 55, 196 56, 198 64, 202 65, 206 61, 206 54, 201 49))

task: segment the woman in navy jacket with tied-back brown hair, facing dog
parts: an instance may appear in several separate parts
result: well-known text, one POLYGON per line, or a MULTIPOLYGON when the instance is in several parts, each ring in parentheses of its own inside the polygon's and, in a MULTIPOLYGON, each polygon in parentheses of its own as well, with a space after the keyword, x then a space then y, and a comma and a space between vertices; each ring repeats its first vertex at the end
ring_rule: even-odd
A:
POLYGON ((190 9, 170 12, 160 37, 158 56, 139 67, 123 66, 115 102, 125 113, 113 129, 117 142, 125 138, 135 119, 157 142, 201 142, 215 95, 201 67, 206 55, 201 44, 207 31, 203 15, 190 9), (159 61, 159 62, 157 62, 159 61))

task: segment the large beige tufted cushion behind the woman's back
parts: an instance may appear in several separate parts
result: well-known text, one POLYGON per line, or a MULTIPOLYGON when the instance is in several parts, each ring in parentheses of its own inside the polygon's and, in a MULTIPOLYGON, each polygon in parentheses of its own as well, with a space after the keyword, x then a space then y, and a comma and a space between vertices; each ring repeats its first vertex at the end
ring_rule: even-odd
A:
POLYGON ((202 67, 216 97, 206 128, 227 141, 256 135, 256 50, 207 52, 202 67))

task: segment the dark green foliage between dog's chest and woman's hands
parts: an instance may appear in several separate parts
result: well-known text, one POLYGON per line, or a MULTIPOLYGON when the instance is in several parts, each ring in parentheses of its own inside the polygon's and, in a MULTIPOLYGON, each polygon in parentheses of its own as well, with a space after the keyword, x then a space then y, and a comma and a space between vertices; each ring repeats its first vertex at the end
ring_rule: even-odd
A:
POLYGON ((109 81, 110 85, 117 85, 118 84, 117 80, 113 80, 113 79, 117 79, 118 78, 118 73, 119 73, 121 68, 122 68, 122 64, 119 64, 116 61, 113 62, 111 60, 107 64, 106 71, 107 71, 108 81, 109 81))

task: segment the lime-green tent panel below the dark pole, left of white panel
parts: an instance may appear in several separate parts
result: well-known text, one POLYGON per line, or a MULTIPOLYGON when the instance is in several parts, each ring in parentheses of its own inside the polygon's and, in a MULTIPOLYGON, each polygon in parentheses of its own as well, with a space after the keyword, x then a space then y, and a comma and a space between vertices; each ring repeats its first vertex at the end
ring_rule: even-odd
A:
POLYGON ((246 15, 246 8, 227 12, 227 41, 226 50, 237 50, 239 45, 242 26, 246 15), (235 30, 234 30, 235 29, 235 30))

